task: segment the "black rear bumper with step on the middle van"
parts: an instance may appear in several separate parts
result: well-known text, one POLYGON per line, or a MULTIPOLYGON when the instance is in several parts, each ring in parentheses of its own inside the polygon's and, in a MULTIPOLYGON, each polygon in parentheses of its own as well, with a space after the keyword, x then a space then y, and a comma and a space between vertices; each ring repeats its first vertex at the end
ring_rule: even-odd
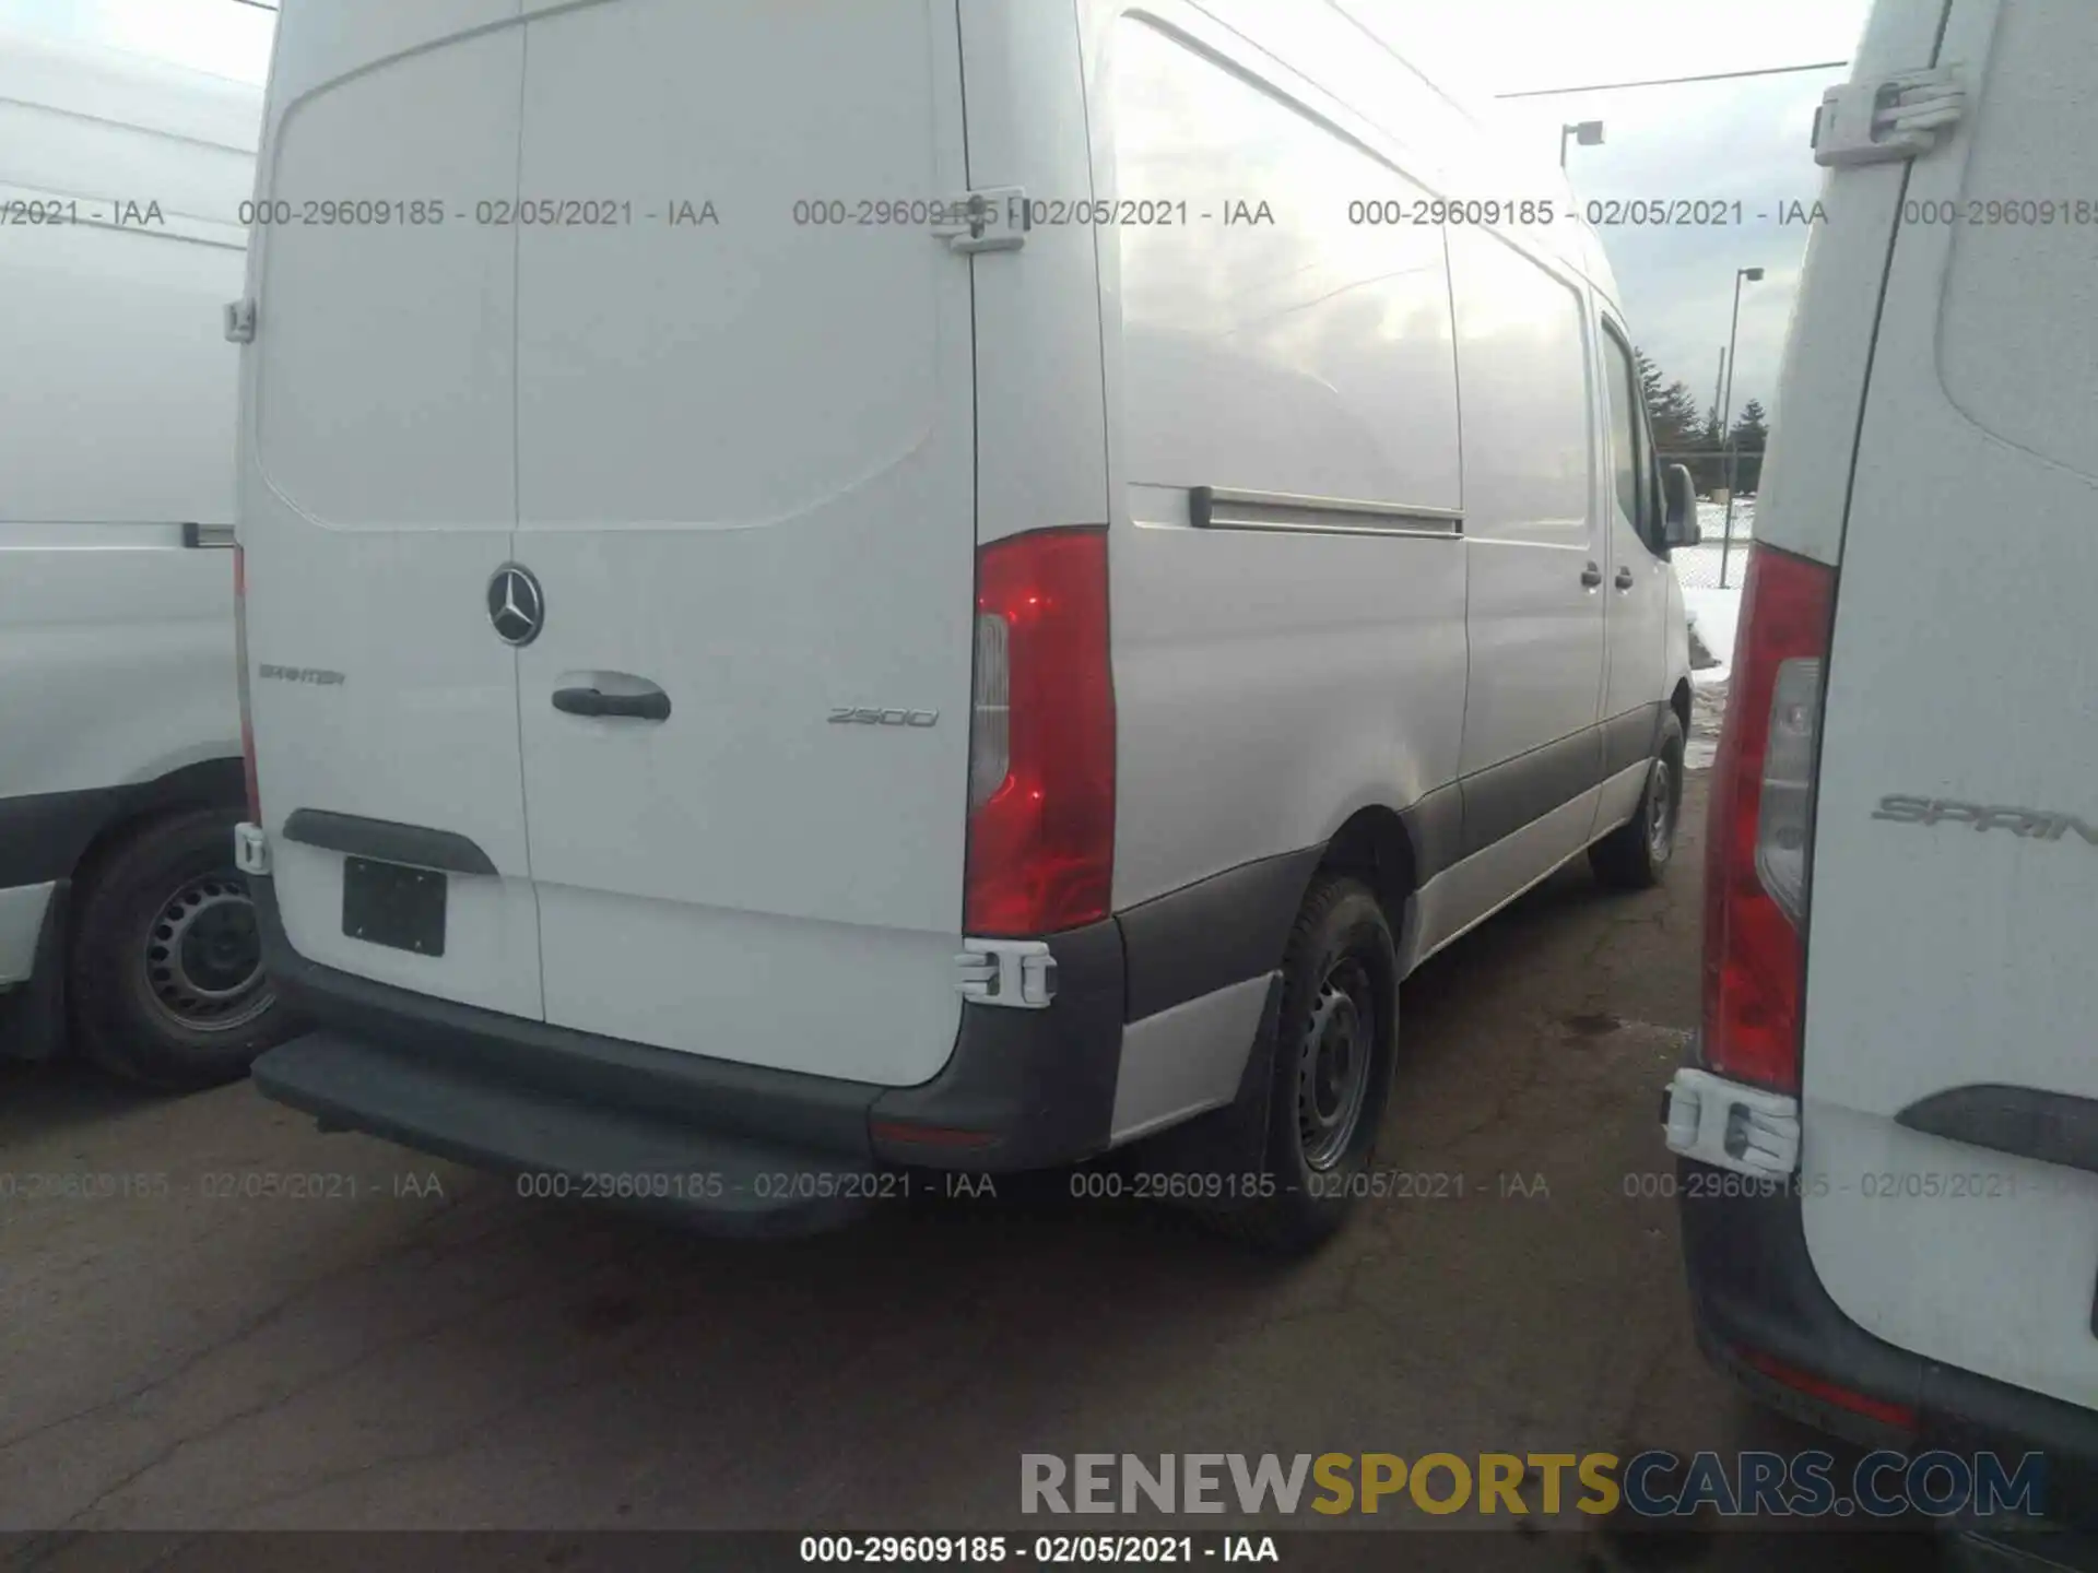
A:
POLYGON ((1114 919, 1049 938, 1053 1007, 963 1003, 948 1063, 921 1086, 896 1089, 600 1038, 373 984, 292 950, 275 881, 250 877, 250 891, 264 967, 315 1026, 262 1055, 254 1080, 327 1128, 485 1168, 564 1175, 571 1195, 629 1175, 617 1187, 629 1195, 606 1200, 667 1206, 724 1233, 843 1223, 887 1193, 858 1177, 896 1166, 1011 1172, 1108 1147, 1122 1047, 1114 919))

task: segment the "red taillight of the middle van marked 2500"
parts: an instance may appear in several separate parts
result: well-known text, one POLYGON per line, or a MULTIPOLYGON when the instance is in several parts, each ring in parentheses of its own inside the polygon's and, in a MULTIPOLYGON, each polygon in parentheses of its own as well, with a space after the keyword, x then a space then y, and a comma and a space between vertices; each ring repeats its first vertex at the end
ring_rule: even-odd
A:
POLYGON ((976 556, 963 927, 1030 935, 1095 923, 1112 875, 1108 533, 994 541, 976 556))

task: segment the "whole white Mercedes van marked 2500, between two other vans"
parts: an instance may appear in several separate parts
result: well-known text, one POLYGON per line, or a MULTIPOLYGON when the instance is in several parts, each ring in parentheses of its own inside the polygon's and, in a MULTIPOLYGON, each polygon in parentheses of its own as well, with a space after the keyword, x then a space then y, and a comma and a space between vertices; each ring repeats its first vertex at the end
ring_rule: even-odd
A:
POLYGON ((233 308, 323 1124, 724 1229, 1173 1130, 1303 1246, 1408 969, 1668 860, 1689 476, 1339 4, 306 0, 258 195, 357 218, 233 308))

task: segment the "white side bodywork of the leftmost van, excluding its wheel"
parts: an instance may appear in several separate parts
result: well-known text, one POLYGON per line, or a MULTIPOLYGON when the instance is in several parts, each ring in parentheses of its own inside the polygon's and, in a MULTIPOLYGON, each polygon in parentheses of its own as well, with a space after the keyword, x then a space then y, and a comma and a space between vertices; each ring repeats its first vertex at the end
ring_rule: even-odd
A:
MULTIPOLYGON (((0 31, 0 810, 239 755, 233 564, 185 524, 233 526, 220 308, 260 113, 245 84, 0 31)), ((73 872, 25 854, 48 877, 0 891, 0 988, 73 872)))

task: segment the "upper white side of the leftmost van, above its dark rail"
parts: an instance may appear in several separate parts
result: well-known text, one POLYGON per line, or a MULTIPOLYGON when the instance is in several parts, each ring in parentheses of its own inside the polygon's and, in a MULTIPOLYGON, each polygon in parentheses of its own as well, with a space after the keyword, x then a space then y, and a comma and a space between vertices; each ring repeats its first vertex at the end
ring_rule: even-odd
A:
POLYGON ((0 254, 0 524, 229 522, 262 90, 0 31, 0 201, 69 214, 0 254))

